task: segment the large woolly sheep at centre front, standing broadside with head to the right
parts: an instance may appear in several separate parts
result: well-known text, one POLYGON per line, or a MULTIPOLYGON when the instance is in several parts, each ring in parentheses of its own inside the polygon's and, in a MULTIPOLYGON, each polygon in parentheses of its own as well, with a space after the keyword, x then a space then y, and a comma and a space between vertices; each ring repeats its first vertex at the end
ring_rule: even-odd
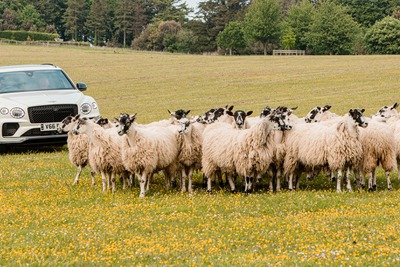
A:
POLYGON ((287 114, 274 112, 249 129, 238 130, 226 123, 209 125, 203 136, 203 172, 208 177, 207 191, 218 172, 227 174, 235 191, 232 175, 245 178, 245 192, 252 188, 252 179, 265 173, 272 162, 271 131, 291 128, 287 114))

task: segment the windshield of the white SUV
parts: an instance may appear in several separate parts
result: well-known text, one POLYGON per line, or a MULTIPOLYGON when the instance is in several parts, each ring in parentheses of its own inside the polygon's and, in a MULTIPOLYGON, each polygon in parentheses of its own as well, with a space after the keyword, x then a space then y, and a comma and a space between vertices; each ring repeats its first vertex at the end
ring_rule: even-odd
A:
POLYGON ((13 92, 75 89, 61 70, 0 73, 0 94, 13 92))

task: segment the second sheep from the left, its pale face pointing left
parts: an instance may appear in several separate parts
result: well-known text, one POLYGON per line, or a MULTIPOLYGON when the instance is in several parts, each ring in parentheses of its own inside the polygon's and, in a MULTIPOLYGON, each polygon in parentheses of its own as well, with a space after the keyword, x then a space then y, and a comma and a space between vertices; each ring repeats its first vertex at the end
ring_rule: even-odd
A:
POLYGON ((89 164, 96 173, 101 174, 103 191, 106 191, 109 182, 112 183, 112 192, 115 192, 116 174, 124 174, 125 168, 121 160, 121 138, 114 129, 105 130, 98 124, 85 118, 75 117, 77 124, 74 134, 85 134, 89 139, 89 164))

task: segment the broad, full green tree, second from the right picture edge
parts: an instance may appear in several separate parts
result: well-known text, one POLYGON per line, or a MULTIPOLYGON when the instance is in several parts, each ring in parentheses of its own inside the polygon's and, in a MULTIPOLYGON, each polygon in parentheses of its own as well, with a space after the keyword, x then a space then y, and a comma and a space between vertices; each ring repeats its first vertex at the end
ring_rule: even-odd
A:
POLYGON ((332 1, 322 2, 306 33, 309 47, 316 54, 341 55, 354 52, 360 27, 347 9, 332 1))

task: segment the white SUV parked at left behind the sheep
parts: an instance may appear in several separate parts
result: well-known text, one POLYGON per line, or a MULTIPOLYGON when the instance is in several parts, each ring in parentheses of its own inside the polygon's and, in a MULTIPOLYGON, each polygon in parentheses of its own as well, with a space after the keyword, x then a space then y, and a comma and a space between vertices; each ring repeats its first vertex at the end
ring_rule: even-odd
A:
POLYGON ((0 67, 0 145, 64 144, 57 128, 65 117, 100 115, 85 90, 51 64, 0 67))

